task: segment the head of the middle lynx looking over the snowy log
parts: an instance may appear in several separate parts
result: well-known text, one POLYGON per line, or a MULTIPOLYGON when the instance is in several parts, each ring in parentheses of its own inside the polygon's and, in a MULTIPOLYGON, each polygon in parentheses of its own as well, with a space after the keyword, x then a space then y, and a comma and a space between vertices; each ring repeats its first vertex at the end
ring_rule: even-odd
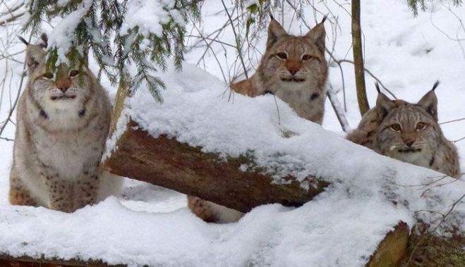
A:
POLYGON ((325 80, 327 75, 324 25, 320 23, 305 36, 296 37, 288 35, 276 20, 272 20, 260 72, 263 80, 272 83, 274 88, 318 87, 322 77, 325 80))

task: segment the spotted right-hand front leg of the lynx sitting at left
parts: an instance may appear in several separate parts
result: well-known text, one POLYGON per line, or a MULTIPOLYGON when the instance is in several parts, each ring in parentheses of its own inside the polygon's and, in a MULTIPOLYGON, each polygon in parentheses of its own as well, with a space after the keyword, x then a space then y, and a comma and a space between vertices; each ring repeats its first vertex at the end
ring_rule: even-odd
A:
POLYGON ((76 209, 83 208, 89 204, 95 204, 97 201, 97 192, 99 190, 99 177, 97 174, 85 174, 83 178, 76 183, 76 209))

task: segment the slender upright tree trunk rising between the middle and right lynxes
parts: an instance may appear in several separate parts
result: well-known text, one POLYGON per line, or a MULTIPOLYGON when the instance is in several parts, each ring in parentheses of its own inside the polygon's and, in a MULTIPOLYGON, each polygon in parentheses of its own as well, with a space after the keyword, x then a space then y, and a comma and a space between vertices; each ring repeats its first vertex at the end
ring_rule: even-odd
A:
POLYGON ((360 26, 360 0, 352 0, 352 51, 354 51, 354 70, 360 113, 370 109, 365 87, 365 67, 363 67, 363 46, 360 26))

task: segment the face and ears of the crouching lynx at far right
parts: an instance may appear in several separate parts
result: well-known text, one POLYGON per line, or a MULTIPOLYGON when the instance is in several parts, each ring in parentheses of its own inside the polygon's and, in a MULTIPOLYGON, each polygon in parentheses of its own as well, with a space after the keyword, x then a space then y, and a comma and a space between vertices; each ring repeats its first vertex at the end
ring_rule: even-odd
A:
POLYGON ((374 148, 380 154, 430 167, 442 132, 437 124, 437 99, 428 92, 417 104, 395 105, 380 94, 377 108, 385 118, 378 127, 374 148))

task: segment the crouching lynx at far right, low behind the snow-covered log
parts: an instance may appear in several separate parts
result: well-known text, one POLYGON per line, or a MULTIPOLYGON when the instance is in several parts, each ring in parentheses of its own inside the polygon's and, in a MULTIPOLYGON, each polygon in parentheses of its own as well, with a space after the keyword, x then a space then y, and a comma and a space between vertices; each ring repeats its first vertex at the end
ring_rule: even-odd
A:
POLYGON ((376 85, 376 106, 347 139, 399 161, 459 178, 457 149, 437 123, 437 85, 439 82, 416 104, 392 101, 376 85))

